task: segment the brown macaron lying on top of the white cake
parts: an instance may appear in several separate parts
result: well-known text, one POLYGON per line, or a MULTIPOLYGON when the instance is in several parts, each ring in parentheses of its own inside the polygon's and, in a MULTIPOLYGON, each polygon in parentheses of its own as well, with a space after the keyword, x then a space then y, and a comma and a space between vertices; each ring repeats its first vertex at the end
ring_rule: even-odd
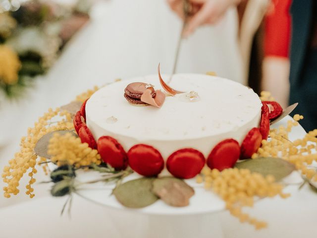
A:
POLYGON ((124 89, 125 99, 134 105, 147 105, 141 101, 142 94, 147 90, 151 90, 151 96, 154 98, 156 96, 156 91, 153 88, 153 85, 141 82, 133 82, 126 86, 124 89))

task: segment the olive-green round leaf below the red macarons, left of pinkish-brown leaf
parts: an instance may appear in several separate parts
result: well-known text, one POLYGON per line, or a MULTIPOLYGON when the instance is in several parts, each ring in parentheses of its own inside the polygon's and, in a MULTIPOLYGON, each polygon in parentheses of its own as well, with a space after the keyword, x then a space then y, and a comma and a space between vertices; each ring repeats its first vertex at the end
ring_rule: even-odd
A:
POLYGON ((113 194, 125 207, 142 208, 156 202, 159 198, 152 192, 154 178, 130 180, 118 185, 113 194))

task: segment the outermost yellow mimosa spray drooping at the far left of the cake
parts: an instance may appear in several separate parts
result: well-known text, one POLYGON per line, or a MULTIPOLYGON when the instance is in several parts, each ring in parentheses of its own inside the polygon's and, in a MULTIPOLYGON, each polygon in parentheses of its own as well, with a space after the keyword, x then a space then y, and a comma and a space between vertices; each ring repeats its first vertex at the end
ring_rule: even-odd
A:
POLYGON ((58 123, 57 125, 52 125, 50 120, 55 116, 65 116, 66 120, 71 116, 69 113, 59 112, 59 108, 55 111, 49 109, 43 117, 40 117, 37 122, 35 122, 33 128, 28 128, 27 136, 21 138, 20 142, 20 151, 14 154, 14 158, 9 161, 9 166, 4 167, 2 178, 3 182, 7 183, 6 187, 3 187, 4 197, 9 198, 10 194, 18 194, 19 181, 29 169, 30 180, 29 184, 26 185, 26 194, 30 198, 34 197, 33 188, 31 185, 36 181, 33 178, 34 174, 37 173, 37 170, 34 168, 36 165, 37 155, 34 152, 34 148, 38 140, 45 134, 55 131, 55 130, 64 130, 64 129, 73 129, 73 125, 70 127, 69 123, 66 123, 66 120, 58 123))

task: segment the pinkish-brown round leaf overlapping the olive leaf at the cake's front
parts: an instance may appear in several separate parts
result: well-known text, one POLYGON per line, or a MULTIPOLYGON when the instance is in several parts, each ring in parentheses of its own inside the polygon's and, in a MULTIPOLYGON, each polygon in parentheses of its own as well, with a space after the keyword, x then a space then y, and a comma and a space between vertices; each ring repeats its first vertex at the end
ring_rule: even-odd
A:
POLYGON ((194 195, 194 189, 182 179, 162 177, 153 182, 153 192, 165 203, 174 207, 189 205, 189 199, 194 195))

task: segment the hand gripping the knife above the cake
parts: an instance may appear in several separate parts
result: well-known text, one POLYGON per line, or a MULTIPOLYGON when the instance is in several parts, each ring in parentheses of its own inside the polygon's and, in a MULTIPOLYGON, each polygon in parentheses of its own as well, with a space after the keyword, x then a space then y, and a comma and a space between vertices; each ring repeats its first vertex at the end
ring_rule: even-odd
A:
MULTIPOLYGON (((184 18, 183 0, 167 0, 171 9, 184 18)), ((189 36, 197 27, 216 23, 226 10, 241 0, 189 0, 191 12, 183 35, 189 36)))

